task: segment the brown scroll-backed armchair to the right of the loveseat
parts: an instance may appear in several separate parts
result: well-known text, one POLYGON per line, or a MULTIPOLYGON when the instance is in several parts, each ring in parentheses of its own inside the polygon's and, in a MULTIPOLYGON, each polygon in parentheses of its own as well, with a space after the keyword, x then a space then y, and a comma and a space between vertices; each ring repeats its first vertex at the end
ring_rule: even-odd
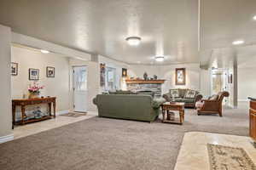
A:
POLYGON ((197 115, 201 114, 218 114, 222 116, 222 101, 224 97, 229 97, 229 92, 219 92, 216 99, 203 99, 204 102, 201 109, 198 110, 197 115))

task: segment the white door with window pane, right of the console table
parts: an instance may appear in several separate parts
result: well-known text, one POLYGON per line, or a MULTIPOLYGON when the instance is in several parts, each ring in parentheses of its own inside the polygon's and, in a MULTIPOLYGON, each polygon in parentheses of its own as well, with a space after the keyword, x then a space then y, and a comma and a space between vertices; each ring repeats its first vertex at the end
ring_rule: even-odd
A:
POLYGON ((86 112, 88 105, 87 67, 73 67, 73 111, 86 112))

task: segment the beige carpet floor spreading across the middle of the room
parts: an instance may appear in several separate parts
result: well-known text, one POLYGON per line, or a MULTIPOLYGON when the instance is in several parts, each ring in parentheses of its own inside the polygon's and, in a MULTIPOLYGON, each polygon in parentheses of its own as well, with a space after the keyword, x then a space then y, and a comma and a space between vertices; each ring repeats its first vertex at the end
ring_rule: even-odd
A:
POLYGON ((247 136, 247 110, 225 109, 224 117, 187 110, 183 126, 93 117, 0 144, 0 169, 170 170, 191 131, 247 136))

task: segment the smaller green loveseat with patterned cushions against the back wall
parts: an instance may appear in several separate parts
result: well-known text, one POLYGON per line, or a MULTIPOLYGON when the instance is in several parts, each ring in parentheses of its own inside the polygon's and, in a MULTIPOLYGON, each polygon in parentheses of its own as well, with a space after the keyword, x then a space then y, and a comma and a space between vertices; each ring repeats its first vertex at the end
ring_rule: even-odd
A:
POLYGON ((185 103, 185 107, 189 108, 195 108, 195 103, 202 99, 202 97, 203 96, 199 94, 198 91, 187 88, 170 89, 169 93, 163 95, 163 98, 165 98, 166 101, 173 101, 174 99, 174 102, 183 102, 185 103), (188 93, 188 91, 190 93, 188 93), (172 95, 174 94, 175 96, 173 97, 172 95))

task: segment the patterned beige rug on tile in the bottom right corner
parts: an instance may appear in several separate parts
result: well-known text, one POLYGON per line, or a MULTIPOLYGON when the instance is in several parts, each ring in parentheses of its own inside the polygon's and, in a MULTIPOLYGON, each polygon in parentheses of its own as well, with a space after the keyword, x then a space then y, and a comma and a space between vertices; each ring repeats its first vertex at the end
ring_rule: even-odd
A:
POLYGON ((242 148, 207 144, 212 170, 256 170, 251 158, 242 148))

